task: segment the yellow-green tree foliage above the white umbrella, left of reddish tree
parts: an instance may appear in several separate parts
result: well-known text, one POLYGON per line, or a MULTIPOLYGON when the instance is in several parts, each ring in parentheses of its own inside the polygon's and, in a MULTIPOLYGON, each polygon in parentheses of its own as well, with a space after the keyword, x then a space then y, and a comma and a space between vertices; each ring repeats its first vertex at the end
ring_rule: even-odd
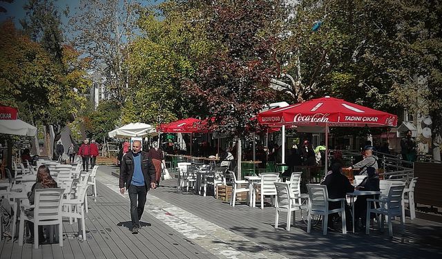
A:
MULTIPOLYGON (((191 12, 191 11, 189 11, 191 12)), ((123 124, 160 124, 204 114, 181 81, 193 75, 199 61, 213 48, 202 26, 189 23, 186 10, 171 1, 140 8, 140 35, 128 48, 130 82, 123 124)))

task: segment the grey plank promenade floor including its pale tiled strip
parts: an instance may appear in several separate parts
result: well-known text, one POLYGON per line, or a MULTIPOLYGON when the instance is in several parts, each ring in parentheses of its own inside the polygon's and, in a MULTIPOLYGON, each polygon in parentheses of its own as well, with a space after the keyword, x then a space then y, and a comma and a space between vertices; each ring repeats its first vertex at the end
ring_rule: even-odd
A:
POLYGON ((77 225, 64 224, 64 247, 0 242, 1 258, 441 258, 442 224, 407 219, 405 233, 397 222, 394 238, 388 231, 329 232, 320 227, 307 233, 302 221, 285 231, 282 213, 275 229, 274 209, 229 206, 213 197, 177 192, 176 180, 148 194, 142 230, 129 231, 127 195, 117 193, 113 169, 100 166, 98 197, 89 196, 86 242, 77 238, 77 225), (195 234, 198 233, 198 234, 195 234), (225 250, 225 251, 224 251, 225 250))

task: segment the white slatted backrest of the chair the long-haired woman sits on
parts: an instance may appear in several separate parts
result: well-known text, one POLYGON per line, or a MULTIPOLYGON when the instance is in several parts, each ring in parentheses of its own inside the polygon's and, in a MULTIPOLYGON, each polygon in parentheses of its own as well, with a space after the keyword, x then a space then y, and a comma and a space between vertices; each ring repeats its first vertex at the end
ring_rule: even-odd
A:
POLYGON ((35 189, 34 218, 36 222, 60 220, 64 189, 35 189))

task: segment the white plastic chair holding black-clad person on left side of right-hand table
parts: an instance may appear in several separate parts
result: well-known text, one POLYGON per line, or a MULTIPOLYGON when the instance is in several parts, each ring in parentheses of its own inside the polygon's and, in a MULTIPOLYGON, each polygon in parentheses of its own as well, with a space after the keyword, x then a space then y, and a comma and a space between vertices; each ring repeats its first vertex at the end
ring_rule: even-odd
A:
POLYGON ((323 215, 323 234, 327 235, 328 215, 340 212, 343 224, 343 233, 347 233, 345 224, 345 198, 330 199, 327 193, 327 186, 322 184, 307 184, 309 191, 309 215, 307 233, 311 231, 311 215, 323 215), (340 208, 329 209, 329 202, 340 202, 340 208))

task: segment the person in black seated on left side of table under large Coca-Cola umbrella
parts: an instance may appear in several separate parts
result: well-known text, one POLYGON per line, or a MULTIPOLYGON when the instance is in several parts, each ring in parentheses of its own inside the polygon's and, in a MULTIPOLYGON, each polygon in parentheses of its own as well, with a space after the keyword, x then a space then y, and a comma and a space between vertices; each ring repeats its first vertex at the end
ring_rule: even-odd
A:
MULTIPOLYGON (((330 199, 338 199, 338 198, 345 198, 346 193, 352 193, 354 192, 354 186, 350 184, 350 181, 348 180, 347 176, 343 175, 342 173, 343 166, 342 164, 335 163, 332 165, 332 171, 329 171, 327 173, 327 176, 325 177, 325 180, 321 182, 321 184, 324 184, 327 186, 327 192, 330 199)), ((340 202, 329 202, 329 209, 338 209, 340 207, 340 202)), ((337 213, 329 214, 329 228, 333 229, 333 218, 336 217, 337 213)), ((351 224, 350 220, 351 213, 348 209, 347 204, 345 204, 345 218, 347 219, 347 227, 349 227, 351 224)))

